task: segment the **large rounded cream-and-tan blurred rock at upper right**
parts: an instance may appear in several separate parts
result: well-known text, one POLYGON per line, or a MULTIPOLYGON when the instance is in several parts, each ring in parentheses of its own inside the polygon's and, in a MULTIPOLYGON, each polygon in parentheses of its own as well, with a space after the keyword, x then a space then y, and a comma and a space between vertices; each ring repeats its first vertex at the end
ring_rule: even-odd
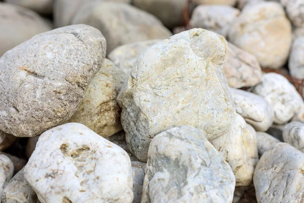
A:
POLYGON ((229 31, 230 42, 254 55, 262 67, 270 69, 280 69, 286 63, 291 36, 291 24, 276 2, 245 7, 229 31))

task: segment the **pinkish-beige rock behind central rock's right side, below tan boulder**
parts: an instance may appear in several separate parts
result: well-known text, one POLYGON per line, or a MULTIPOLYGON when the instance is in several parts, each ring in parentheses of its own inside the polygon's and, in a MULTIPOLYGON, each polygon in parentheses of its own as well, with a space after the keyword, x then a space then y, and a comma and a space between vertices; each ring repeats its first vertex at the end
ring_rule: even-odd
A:
POLYGON ((224 73, 228 85, 234 88, 257 85, 262 80, 261 67, 255 56, 243 49, 227 43, 224 73))

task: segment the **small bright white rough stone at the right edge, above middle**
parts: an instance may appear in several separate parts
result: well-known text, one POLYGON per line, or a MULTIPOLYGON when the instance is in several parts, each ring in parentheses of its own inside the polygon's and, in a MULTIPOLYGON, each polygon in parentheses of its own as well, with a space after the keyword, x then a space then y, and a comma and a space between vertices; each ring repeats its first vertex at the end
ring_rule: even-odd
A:
POLYGON ((283 124, 295 116, 303 107, 303 99, 295 87, 282 75, 267 73, 253 93, 262 96, 273 107, 276 124, 283 124))

